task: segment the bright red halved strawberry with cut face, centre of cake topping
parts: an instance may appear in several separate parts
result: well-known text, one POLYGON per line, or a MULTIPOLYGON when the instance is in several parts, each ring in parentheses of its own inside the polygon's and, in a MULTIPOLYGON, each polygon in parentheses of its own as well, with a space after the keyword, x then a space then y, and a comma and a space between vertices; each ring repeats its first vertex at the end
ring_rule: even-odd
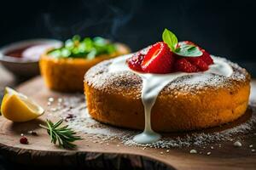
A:
POLYGON ((169 73, 172 71, 172 65, 174 57, 171 49, 165 42, 156 42, 148 50, 148 54, 145 55, 142 63, 142 69, 144 72, 150 73, 169 73))

